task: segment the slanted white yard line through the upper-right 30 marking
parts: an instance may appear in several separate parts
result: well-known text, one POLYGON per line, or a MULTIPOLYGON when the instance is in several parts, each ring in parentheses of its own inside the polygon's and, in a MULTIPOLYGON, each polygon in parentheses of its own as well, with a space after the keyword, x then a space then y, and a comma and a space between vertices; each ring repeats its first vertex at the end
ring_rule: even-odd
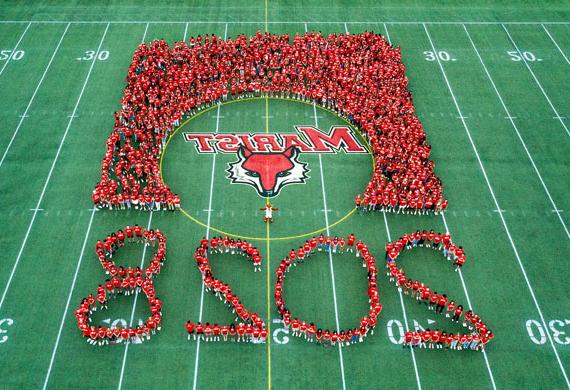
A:
MULTIPOLYGON (((434 46, 433 41, 431 39, 431 35, 429 34, 429 31, 428 31, 425 24, 423 27, 424 27, 424 30, 425 30, 426 35, 428 37, 428 40, 430 42, 431 48, 435 52, 435 46, 434 46)), ((451 84, 449 83, 449 80, 447 79, 447 75, 445 73, 445 70, 443 69, 443 65, 441 64, 441 62, 437 56, 436 56, 436 61, 437 61, 437 64, 439 65, 439 68, 441 70, 443 78, 445 79, 445 84, 447 85, 447 88, 449 89, 449 92, 451 94, 451 98, 453 99, 453 103, 455 105, 455 108, 457 109, 457 113, 459 114, 459 118, 461 119, 461 123, 463 124, 465 132, 467 133, 467 137, 469 138, 469 142, 471 143, 471 147, 473 148, 473 152, 475 153, 475 157, 477 158, 477 161, 479 162, 479 168, 481 169, 481 173, 483 173, 483 177, 485 178, 485 182, 487 183, 487 187, 489 189, 489 192, 491 193, 491 197, 493 198, 493 202, 495 203, 497 210, 501 210, 501 207, 499 206, 499 201, 497 200, 497 198, 495 196, 495 191, 493 190, 493 187, 491 186, 491 182, 489 181, 489 177, 487 176, 487 171, 485 170, 485 167, 483 166, 483 162, 481 161, 481 158, 479 156, 479 152, 477 151, 477 147, 475 146, 475 143, 473 142, 473 138, 471 137, 471 132, 469 131, 469 127, 467 126, 467 123, 465 122, 465 117, 463 116, 461 108, 459 107, 459 104, 457 103, 457 99, 455 98, 455 94, 453 93, 453 89, 451 88, 451 84)), ((519 267, 520 267, 521 272, 524 276, 524 279, 526 281, 526 284, 528 286, 528 290, 532 296, 534 304, 536 306, 536 310, 538 311, 538 314, 539 314, 540 319, 542 321, 542 325, 544 326, 546 335, 548 336, 548 340, 550 341, 550 345, 552 346, 552 350, 554 351, 554 355, 556 356, 556 360, 558 361, 558 364, 560 365, 560 369, 561 369, 562 375, 564 376, 564 379, 566 381, 566 385, 570 388, 570 381, 568 380, 568 376, 566 375, 566 371, 564 370, 564 366, 562 365, 562 361, 560 360, 560 356, 558 356, 558 351, 556 350, 554 342, 552 341, 552 336, 550 335, 550 331, 548 330, 548 327, 546 325, 546 321, 544 320, 542 310, 540 309, 540 305, 538 304, 536 296, 534 295, 534 290, 530 284, 530 281, 529 281, 528 276, 526 274, 526 270, 525 270, 525 268, 522 264, 522 261, 520 259, 518 249, 517 249, 517 247, 513 241, 513 238, 511 236, 511 232, 507 226, 507 222, 505 221, 505 217, 503 216, 504 213, 498 213, 498 214, 499 214, 499 218, 501 218, 501 222, 503 223, 505 233, 507 234, 507 237, 509 238, 509 241, 510 241, 511 247, 513 249, 513 252, 515 254, 515 257, 519 263, 519 267)))

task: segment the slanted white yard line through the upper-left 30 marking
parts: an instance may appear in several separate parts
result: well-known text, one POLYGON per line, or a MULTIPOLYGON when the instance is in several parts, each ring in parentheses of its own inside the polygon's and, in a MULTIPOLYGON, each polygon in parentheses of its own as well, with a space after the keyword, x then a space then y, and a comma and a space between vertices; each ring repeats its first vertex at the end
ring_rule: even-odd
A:
MULTIPOLYGON (((99 51, 101 50, 101 45, 103 44, 103 40, 105 39, 105 36, 107 35, 108 30, 109 30, 109 24, 107 24, 107 27, 105 28, 105 32, 103 33, 103 36, 101 37, 101 41, 99 42, 99 46, 97 47, 96 53, 99 53, 99 51)), ((67 138, 67 134, 69 133, 69 129, 71 128, 71 124, 73 123, 73 119, 75 118, 75 113, 77 112, 77 108, 79 107, 79 103, 81 102, 81 98, 83 97, 83 92, 85 92, 85 87, 87 86, 87 82, 89 81, 89 77, 91 77, 91 72, 93 71, 93 66, 95 65, 96 60, 97 60, 97 56, 93 57, 93 62, 91 62, 89 72, 87 73, 87 77, 85 78, 85 81, 83 82, 81 92, 79 93, 79 97, 77 98, 77 102, 75 103, 75 107, 73 108, 73 113, 71 114, 71 116, 69 118, 69 122, 67 123, 67 127, 65 129, 65 132, 63 134, 63 137, 61 138, 61 141, 59 143, 59 147, 57 148, 57 152, 56 152, 55 157, 53 159, 53 162, 51 164, 51 168, 49 170, 48 176, 47 176, 46 181, 44 183, 44 187, 42 189, 42 192, 40 194, 38 202, 36 203, 36 207, 34 208, 34 214, 32 215, 32 220, 30 221, 30 224, 28 225, 28 230, 26 231, 26 235, 24 236, 24 241, 22 242, 22 245, 20 246, 20 251, 18 252, 18 256, 16 257, 16 262, 14 263, 14 266, 12 267, 12 272, 10 273, 10 277, 8 278, 8 283, 6 284, 6 287, 4 288, 4 292, 2 293, 2 298, 0 299, 0 309, 2 308, 2 305, 4 304, 4 299, 6 298, 6 294, 8 292, 8 289, 10 288, 10 284, 12 283, 12 278, 14 277, 14 273, 16 272, 16 268, 18 267, 18 264, 20 263, 22 253, 24 252, 24 248, 26 246, 26 243, 28 242, 28 237, 30 236, 30 232, 32 231, 32 226, 34 225, 34 222, 36 220, 36 216, 38 215, 38 210, 40 209, 40 205, 42 203, 42 200, 44 199, 44 195, 46 193, 47 186, 51 180, 51 175, 53 173, 53 170, 55 168, 57 160, 59 159, 59 154, 61 153, 61 149, 63 147, 65 139, 67 138)))

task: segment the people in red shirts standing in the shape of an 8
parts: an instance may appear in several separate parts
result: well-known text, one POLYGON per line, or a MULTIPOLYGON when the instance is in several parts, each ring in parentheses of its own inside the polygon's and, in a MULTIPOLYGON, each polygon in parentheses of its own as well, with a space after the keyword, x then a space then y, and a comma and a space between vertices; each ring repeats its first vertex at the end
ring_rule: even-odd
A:
POLYGON ((166 237, 156 230, 146 230, 138 225, 127 226, 124 230, 112 233, 102 241, 97 241, 95 253, 105 269, 109 278, 105 283, 97 287, 96 294, 89 294, 81 300, 75 317, 77 325, 87 342, 93 345, 106 345, 121 342, 141 343, 148 340, 151 335, 160 331, 162 322, 162 301, 157 298, 152 278, 160 273, 166 257, 166 237), (156 253, 152 256, 147 268, 117 266, 113 255, 125 243, 143 243, 144 245, 157 246, 156 253), (151 315, 147 320, 136 327, 104 327, 94 326, 91 315, 97 309, 106 309, 109 298, 118 295, 130 295, 144 293, 150 306, 151 315))

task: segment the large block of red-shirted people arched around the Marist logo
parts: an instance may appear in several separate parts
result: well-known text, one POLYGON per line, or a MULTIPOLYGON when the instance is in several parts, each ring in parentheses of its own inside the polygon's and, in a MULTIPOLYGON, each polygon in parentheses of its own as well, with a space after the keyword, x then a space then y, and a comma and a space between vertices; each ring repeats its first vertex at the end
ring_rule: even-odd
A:
POLYGON ((155 40, 137 48, 126 82, 92 194, 97 207, 179 207, 159 167, 172 130, 183 117, 242 96, 311 101, 357 127, 375 155, 372 178, 357 198, 363 210, 447 207, 400 49, 381 35, 258 32, 223 40, 212 34, 173 47, 155 40))

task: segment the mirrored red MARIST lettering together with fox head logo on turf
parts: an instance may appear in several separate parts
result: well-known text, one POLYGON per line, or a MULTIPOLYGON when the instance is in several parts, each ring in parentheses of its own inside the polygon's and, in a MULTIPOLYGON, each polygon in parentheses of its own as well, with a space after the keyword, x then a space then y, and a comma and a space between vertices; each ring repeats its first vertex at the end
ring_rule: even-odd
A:
POLYGON ((288 184, 304 184, 308 164, 303 153, 368 153, 347 126, 325 133, 312 126, 295 126, 297 133, 184 133, 198 153, 236 154, 228 164, 232 183, 254 187, 262 197, 275 197, 288 184))

